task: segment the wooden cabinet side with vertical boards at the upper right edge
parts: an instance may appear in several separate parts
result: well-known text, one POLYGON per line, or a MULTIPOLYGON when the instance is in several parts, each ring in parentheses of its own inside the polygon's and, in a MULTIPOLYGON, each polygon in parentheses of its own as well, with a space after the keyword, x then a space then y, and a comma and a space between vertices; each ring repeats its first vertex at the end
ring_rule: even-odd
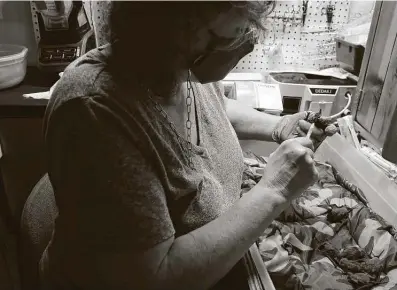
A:
POLYGON ((397 2, 378 1, 355 94, 353 115, 360 134, 397 162, 397 2))

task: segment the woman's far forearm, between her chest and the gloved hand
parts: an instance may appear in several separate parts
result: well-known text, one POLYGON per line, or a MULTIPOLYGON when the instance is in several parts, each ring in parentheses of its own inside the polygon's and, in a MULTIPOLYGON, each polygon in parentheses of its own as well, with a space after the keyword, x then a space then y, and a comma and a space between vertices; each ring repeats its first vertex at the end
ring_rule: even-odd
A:
POLYGON ((273 141, 272 132, 281 117, 259 112, 226 97, 224 100, 227 116, 239 139, 273 141))

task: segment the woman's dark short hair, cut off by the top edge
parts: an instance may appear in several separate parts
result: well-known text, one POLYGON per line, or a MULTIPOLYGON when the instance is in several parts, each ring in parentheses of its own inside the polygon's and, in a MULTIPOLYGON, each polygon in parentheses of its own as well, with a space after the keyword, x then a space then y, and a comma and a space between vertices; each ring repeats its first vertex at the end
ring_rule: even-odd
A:
POLYGON ((115 1, 110 12, 112 42, 131 71, 168 75, 186 61, 195 32, 219 13, 236 7, 252 26, 262 29, 274 1, 115 1), (114 45, 116 47, 116 45, 114 45), (159 70, 163 70, 160 73, 159 70))

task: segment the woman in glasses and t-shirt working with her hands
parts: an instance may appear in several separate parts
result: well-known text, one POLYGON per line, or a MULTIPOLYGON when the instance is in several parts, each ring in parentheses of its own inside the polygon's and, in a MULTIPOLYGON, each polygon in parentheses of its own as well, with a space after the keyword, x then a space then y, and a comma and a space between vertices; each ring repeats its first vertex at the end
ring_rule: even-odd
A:
POLYGON ((244 289, 240 259, 317 177, 312 141, 293 138, 307 113, 244 108, 216 82, 272 3, 114 5, 112 44, 65 71, 46 112, 59 216, 44 286, 244 289), (237 136, 282 143, 241 198, 237 136))

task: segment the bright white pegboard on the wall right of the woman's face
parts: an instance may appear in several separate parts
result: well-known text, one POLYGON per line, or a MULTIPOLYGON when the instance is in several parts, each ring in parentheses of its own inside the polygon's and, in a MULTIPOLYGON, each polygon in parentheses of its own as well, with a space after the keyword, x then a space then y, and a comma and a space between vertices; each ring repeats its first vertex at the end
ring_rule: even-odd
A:
POLYGON ((303 25, 302 0, 278 1, 274 11, 263 21, 264 37, 233 72, 321 70, 338 66, 335 37, 350 21, 372 13, 374 4, 375 0, 309 0, 303 25), (365 5, 361 5, 364 2, 365 5), (334 11, 330 25, 325 13, 328 5, 332 5, 334 11))

